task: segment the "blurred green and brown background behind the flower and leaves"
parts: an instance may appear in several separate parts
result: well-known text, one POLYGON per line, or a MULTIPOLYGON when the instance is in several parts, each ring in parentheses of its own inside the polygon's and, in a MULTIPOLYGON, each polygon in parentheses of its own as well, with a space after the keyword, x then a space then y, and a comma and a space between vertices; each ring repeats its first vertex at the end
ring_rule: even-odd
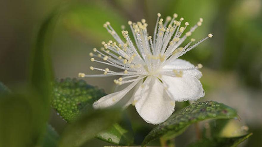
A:
MULTIPOLYGON (((102 41, 112 39, 102 26, 106 21, 110 21, 120 33, 121 26, 127 27, 128 20, 135 22, 145 18, 152 34, 157 12, 162 14, 162 18, 175 12, 192 25, 203 18, 202 26, 192 37, 202 39, 213 33, 213 38, 182 57, 204 66, 201 81, 206 95, 200 101, 210 99, 235 108, 241 121, 234 123, 247 125, 249 132, 253 132, 242 146, 262 146, 261 0, 0 1, 0 81, 10 89, 26 82, 29 53, 38 29, 56 9, 63 9, 50 44, 56 78, 76 78, 78 72, 96 73, 89 70, 91 61, 88 54, 92 48, 102 47, 102 41)), ((114 91, 113 79, 85 80, 110 93, 114 91)), ((152 127, 138 116, 132 106, 127 109, 127 114, 134 128, 141 123, 146 126, 145 134, 152 127)), ((50 123, 58 132, 66 124, 54 111, 50 123)), ((237 132, 231 132, 232 135, 234 133, 237 132)), ((176 143, 194 140, 190 134, 186 131, 176 143)), ((91 143, 106 144, 96 139, 91 143)))

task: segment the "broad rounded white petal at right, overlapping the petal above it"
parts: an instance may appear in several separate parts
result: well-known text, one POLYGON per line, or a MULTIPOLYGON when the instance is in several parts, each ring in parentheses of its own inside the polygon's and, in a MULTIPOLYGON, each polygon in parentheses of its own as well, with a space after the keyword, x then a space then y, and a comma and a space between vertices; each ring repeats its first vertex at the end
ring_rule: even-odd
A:
POLYGON ((162 75, 161 80, 167 85, 171 98, 176 101, 197 100, 205 95, 202 84, 194 76, 188 74, 183 74, 182 77, 162 75))

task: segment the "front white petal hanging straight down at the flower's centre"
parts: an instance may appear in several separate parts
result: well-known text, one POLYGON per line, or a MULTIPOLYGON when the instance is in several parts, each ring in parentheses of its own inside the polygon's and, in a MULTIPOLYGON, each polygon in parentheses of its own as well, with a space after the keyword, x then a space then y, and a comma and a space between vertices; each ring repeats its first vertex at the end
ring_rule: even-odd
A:
POLYGON ((168 96, 162 83, 155 77, 147 77, 143 86, 135 91, 134 98, 137 101, 137 112, 151 124, 165 121, 174 111, 175 101, 168 96))

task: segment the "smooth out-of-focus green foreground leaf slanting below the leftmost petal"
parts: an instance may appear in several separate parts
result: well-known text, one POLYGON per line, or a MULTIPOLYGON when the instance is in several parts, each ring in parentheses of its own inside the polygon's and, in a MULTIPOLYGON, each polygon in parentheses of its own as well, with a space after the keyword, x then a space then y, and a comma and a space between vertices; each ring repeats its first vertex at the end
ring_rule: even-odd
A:
POLYGON ((119 109, 95 110, 83 114, 74 123, 69 124, 61 135, 60 147, 81 146, 87 140, 93 138, 97 133, 108 129, 120 117, 119 109))

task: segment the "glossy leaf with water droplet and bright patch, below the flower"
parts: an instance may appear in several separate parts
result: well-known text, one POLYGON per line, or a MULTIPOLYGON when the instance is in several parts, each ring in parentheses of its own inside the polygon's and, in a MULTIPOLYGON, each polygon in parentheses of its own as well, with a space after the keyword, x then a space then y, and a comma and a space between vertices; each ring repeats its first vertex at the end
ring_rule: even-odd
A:
POLYGON ((124 118, 119 124, 114 124, 110 129, 97 134, 96 138, 122 146, 131 146, 134 143, 134 133, 127 118, 124 118))

